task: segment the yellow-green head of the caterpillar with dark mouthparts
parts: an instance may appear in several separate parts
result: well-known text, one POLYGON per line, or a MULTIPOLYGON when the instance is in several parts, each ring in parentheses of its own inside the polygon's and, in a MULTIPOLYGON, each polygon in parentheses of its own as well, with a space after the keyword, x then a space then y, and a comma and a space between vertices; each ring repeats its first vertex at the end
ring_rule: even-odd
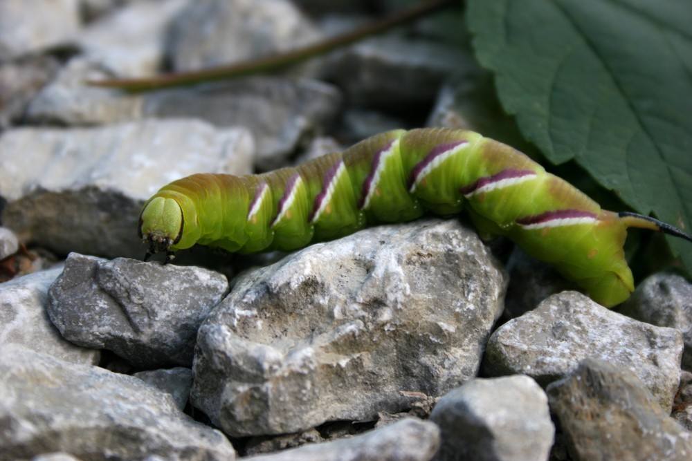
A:
POLYGON ((171 247, 182 238, 184 226, 183 209, 173 198, 158 196, 145 203, 138 228, 139 237, 149 245, 144 261, 158 252, 166 252, 164 264, 173 261, 171 247))

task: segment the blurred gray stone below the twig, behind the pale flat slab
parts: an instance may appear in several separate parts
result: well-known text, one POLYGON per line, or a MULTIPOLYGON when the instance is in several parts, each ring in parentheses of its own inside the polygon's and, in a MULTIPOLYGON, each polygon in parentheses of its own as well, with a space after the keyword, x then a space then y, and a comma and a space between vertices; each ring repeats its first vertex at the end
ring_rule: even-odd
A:
POLYGON ((310 79, 248 77, 147 95, 149 117, 192 116, 217 126, 246 126, 257 140, 257 167, 283 167, 304 138, 338 115, 339 91, 310 79))

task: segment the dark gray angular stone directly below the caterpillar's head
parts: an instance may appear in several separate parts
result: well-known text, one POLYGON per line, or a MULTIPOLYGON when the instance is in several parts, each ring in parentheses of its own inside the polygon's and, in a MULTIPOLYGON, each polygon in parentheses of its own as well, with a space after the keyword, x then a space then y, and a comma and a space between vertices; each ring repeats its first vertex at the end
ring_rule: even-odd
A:
POLYGON ((69 341, 140 368, 189 367, 197 328, 226 292, 226 277, 201 267, 71 253, 48 315, 69 341))

